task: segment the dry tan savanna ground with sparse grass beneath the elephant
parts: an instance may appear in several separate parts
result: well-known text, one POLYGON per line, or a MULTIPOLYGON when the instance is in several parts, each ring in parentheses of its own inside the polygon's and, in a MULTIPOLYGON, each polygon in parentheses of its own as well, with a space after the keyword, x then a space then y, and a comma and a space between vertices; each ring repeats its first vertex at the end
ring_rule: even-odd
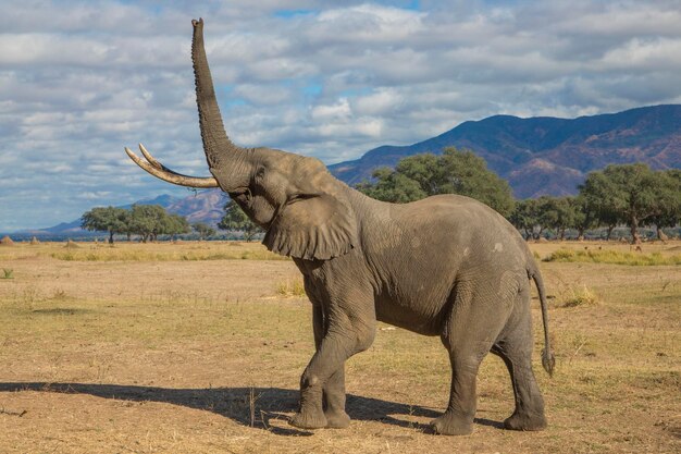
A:
MULTIPOLYGON (((635 254, 652 253, 681 243, 635 254)), ((439 340, 385 324, 348 361, 350 427, 288 426, 311 310, 294 263, 259 244, 0 246, 0 452, 680 452, 681 266, 541 267, 555 377, 538 361, 536 299, 534 363, 550 426, 500 429, 512 391, 488 356, 475 432, 453 438, 424 431, 448 396, 439 340)))

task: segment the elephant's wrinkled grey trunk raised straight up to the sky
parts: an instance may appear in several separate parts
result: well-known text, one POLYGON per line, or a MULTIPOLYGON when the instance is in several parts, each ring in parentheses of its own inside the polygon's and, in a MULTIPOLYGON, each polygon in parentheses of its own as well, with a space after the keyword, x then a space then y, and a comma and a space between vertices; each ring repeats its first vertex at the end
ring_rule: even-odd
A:
POLYGON ((221 187, 230 192, 248 184, 250 174, 247 174, 248 167, 245 161, 249 152, 234 145, 227 137, 203 47, 203 20, 191 21, 191 24, 194 25, 191 61, 203 151, 208 165, 221 187))

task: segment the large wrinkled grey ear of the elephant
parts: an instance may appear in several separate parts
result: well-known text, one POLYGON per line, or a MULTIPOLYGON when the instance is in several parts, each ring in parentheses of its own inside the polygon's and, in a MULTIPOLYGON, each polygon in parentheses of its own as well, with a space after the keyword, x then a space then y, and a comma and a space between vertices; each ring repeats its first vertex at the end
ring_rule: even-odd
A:
POLYGON ((306 260, 349 253, 357 246, 357 222, 343 184, 319 161, 302 167, 307 171, 298 173, 297 189, 280 208, 262 243, 273 253, 306 260), (317 171, 310 174, 310 168, 317 171))

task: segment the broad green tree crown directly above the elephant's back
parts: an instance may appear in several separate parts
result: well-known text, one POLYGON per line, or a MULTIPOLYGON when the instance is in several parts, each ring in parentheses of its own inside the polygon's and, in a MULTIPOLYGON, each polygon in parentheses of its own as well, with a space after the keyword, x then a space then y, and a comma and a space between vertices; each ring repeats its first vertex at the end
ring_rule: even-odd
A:
POLYGON ((508 183, 487 169, 485 160, 472 151, 446 148, 442 156, 414 155, 401 159, 395 170, 379 169, 374 183, 364 182, 359 191, 379 200, 408 203, 436 194, 460 194, 488 205, 505 217, 515 199, 508 183))

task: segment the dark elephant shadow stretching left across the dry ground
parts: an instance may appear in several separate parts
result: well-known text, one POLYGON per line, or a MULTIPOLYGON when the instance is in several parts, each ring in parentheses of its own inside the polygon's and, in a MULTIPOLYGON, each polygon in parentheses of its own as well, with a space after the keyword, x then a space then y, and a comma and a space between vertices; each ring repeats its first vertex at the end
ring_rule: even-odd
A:
MULTIPOLYGON (((281 388, 207 388, 174 389, 128 384, 97 383, 0 383, 0 392, 40 391, 67 394, 90 394, 102 398, 131 402, 159 402, 212 412, 243 426, 269 430, 281 435, 311 435, 312 432, 294 427, 273 426, 271 421, 288 420, 286 414, 298 408, 299 391, 281 388)), ((363 421, 382 421, 393 426, 430 431, 428 425, 407 418, 435 418, 441 415, 432 408, 407 405, 374 397, 347 395, 346 410, 350 418, 363 421)), ((484 418, 475 418, 482 426, 502 428, 503 425, 484 418)))

